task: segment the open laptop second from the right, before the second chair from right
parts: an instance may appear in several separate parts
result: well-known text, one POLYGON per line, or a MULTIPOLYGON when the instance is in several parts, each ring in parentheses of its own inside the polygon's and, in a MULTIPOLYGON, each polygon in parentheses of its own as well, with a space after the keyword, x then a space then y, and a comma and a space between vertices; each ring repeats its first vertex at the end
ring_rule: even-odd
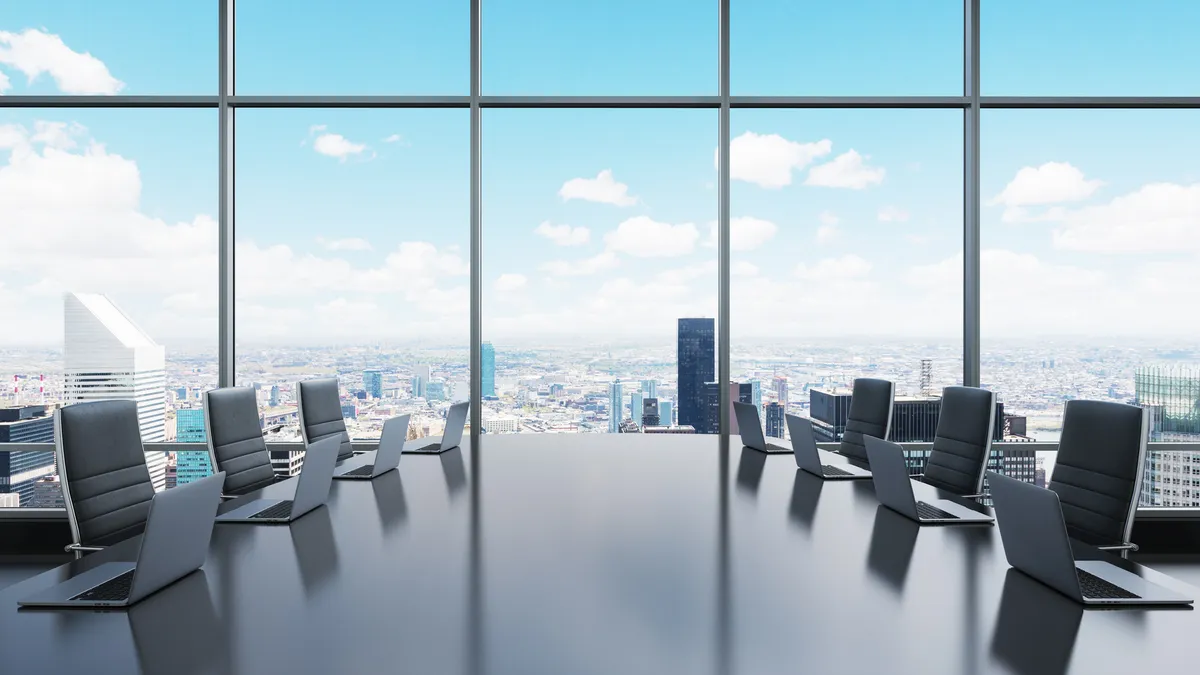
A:
POLYGON ((917 501, 905 464, 904 448, 874 436, 863 436, 866 459, 871 462, 875 496, 880 503, 922 525, 978 525, 995 519, 950 500, 917 501))

